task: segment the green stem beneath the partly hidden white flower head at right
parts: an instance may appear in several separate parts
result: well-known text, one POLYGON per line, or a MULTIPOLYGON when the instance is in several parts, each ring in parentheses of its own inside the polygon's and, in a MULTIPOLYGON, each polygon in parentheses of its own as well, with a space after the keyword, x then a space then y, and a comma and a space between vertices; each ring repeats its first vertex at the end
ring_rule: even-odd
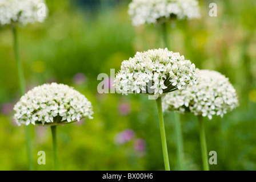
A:
POLYGON ((203 170, 209 171, 209 161, 208 161, 208 155, 207 155, 205 128, 203 127, 202 115, 198 115, 198 123, 199 123, 199 135, 200 135, 202 159, 203 159, 203 170))

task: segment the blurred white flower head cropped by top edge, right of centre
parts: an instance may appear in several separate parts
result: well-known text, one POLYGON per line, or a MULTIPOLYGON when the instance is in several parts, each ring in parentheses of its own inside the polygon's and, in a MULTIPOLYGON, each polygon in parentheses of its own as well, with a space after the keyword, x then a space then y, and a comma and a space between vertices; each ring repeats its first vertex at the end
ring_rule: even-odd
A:
POLYGON ((171 17, 177 19, 199 18, 197 0, 133 0, 129 4, 129 15, 134 26, 156 23, 171 17))

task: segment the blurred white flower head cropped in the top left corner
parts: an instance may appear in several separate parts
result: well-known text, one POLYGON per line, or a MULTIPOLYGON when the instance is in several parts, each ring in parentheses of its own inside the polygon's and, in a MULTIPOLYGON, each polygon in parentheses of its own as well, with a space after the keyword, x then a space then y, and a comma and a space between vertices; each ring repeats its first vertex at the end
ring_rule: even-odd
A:
POLYGON ((46 17, 40 11, 41 5, 46 8, 45 0, 1 0, 0 25, 43 22, 46 17))

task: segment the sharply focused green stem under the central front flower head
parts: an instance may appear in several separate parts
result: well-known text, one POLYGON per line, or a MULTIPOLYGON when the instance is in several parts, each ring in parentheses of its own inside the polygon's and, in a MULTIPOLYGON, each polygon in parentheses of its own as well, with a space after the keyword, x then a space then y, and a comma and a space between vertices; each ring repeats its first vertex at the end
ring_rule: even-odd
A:
POLYGON ((165 123, 163 122, 162 98, 158 97, 156 101, 157 101, 159 125, 160 125, 161 140, 162 140, 163 160, 165 162, 165 171, 170 171, 170 164, 169 164, 167 143, 166 143, 166 136, 165 136, 165 123))

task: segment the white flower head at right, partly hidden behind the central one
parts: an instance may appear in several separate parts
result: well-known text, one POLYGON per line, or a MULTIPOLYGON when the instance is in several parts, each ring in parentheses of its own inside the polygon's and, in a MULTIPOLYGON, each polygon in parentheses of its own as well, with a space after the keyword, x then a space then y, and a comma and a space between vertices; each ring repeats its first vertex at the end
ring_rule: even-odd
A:
POLYGON ((237 94, 229 78, 209 70, 200 70, 199 76, 201 80, 193 88, 188 86, 185 90, 167 94, 163 110, 190 112, 211 119, 215 114, 223 117, 238 106, 237 94))

